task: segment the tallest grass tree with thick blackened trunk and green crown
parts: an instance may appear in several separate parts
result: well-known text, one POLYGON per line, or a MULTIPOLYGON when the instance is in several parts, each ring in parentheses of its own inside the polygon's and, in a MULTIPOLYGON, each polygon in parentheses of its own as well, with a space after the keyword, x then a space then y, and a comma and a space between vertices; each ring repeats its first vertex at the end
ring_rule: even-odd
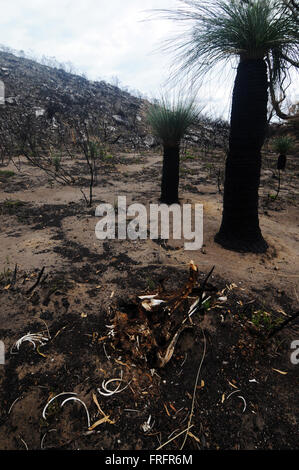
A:
POLYGON ((268 245, 259 226, 258 190, 268 92, 276 113, 286 118, 275 90, 283 91, 289 68, 298 67, 298 18, 289 2, 282 0, 181 3, 177 10, 162 10, 168 18, 190 24, 168 46, 176 52, 178 71, 202 78, 223 61, 233 58, 238 64, 223 217, 215 241, 227 249, 262 253, 268 245))

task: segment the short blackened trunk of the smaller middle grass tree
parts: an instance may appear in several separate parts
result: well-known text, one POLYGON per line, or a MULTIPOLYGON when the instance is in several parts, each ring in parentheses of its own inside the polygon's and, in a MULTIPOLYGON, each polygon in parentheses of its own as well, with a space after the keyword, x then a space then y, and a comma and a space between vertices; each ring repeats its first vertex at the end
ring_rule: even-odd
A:
POLYGON ((164 204, 179 202, 180 146, 164 145, 163 173, 160 201, 164 204))

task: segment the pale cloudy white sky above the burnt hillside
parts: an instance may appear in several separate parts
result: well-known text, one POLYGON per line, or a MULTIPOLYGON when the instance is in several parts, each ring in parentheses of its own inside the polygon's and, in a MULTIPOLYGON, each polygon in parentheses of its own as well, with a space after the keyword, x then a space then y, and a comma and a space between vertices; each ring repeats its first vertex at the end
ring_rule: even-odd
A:
MULTIPOLYGON (((151 10, 174 9, 177 0, 0 0, 0 44, 71 62, 91 80, 107 80, 148 98, 169 90, 174 57, 159 50, 177 24, 151 10)), ((200 106, 228 119, 235 70, 228 66, 205 80, 200 106)), ((298 85, 298 82, 297 82, 298 85)), ((299 87, 298 87, 299 88, 299 87)), ((299 100, 295 86, 289 90, 299 100)))

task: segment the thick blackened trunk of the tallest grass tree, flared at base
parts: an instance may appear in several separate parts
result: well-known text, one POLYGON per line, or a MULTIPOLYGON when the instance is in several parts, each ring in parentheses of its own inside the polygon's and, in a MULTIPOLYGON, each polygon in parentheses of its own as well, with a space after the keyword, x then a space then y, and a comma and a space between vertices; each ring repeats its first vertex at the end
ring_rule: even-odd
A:
POLYGON ((224 248, 264 253, 258 218, 261 148, 267 130, 268 80, 262 59, 241 60, 231 113, 222 224, 215 241, 224 248))

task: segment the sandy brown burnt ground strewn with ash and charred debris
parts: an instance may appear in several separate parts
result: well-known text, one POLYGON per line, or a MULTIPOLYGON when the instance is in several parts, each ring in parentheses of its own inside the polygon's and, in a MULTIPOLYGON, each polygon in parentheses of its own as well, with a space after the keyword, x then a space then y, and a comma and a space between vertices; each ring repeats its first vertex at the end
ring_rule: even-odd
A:
MULTIPOLYGON (((182 202, 204 204, 200 252, 174 240, 97 240, 99 202, 115 204, 126 195, 128 204, 149 204, 159 197, 161 156, 112 160, 100 169, 91 209, 78 187, 49 181, 22 160, 0 175, 0 339, 6 347, 0 448, 154 450, 169 440, 164 450, 183 444, 185 450, 297 448, 298 365, 290 356, 292 341, 299 340, 298 319, 278 331, 298 311, 296 159, 288 161, 277 200, 271 197, 275 156, 264 159, 260 213, 270 248, 262 256, 232 253, 213 241, 224 162, 215 153, 189 153, 182 161, 182 202), (137 295, 158 292, 162 280, 166 293, 178 293, 190 259, 199 286, 215 266, 205 286, 210 299, 159 368, 153 358, 146 362, 120 348, 107 326, 115 312, 129 314, 137 295), (48 341, 36 349, 23 342, 17 350, 16 341, 29 332, 48 341), (109 387, 127 386, 121 393, 100 393, 103 380, 120 377, 109 387), (77 393, 91 425, 104 422, 88 430, 82 404, 60 406, 71 395, 53 400, 44 419, 47 402, 62 392, 77 393), (189 421, 187 439, 172 440, 189 421)), ((87 185, 83 161, 69 165, 87 185)), ((186 312, 196 292, 198 286, 185 300, 186 312)), ((143 339, 130 341, 135 347, 143 339)))

